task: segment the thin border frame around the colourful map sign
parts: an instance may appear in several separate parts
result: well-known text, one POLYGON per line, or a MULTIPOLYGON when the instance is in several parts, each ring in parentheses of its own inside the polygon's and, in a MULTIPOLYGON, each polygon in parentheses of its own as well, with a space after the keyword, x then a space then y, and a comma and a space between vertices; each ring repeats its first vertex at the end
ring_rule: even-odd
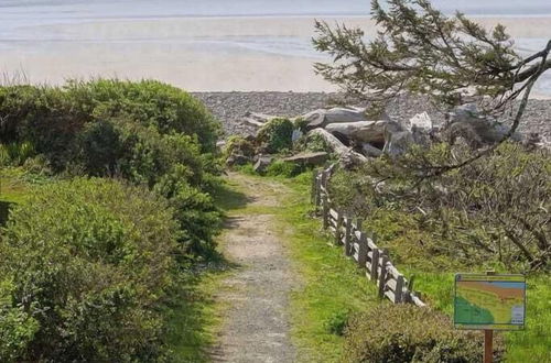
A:
POLYGON ((455 329, 461 330, 525 330, 526 324, 526 276, 520 274, 495 274, 495 275, 486 275, 486 274, 462 274, 457 273, 454 276, 454 294, 453 294, 453 324, 455 329), (491 324, 480 324, 480 323, 456 323, 455 322, 455 309, 456 309, 456 299, 457 299, 457 282, 504 282, 504 283, 523 283, 525 284, 525 319, 522 324, 514 324, 514 323, 491 323, 491 324))

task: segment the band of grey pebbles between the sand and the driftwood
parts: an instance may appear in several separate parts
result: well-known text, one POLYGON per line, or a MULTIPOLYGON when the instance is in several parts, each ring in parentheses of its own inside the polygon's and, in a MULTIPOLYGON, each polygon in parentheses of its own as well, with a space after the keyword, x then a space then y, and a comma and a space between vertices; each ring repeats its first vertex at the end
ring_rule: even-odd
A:
MULTIPOLYGON (((248 112, 295 117, 318 108, 354 103, 341 94, 332 92, 193 92, 213 114, 222 121, 226 135, 250 134, 256 128, 244 123, 248 112)), ((387 107, 393 120, 409 120, 426 112, 433 122, 441 123, 444 114, 421 97, 400 97, 387 107)), ((529 101, 521 133, 538 133, 547 143, 551 141, 551 100, 529 101)))

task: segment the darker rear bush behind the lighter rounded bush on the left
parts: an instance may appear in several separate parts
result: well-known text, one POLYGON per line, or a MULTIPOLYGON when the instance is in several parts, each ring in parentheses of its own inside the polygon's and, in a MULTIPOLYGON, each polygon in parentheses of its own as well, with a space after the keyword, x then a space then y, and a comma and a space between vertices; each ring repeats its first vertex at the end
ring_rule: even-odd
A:
POLYGON ((177 209, 184 252, 213 250, 220 213, 208 191, 220 172, 219 125, 188 94, 151 80, 0 87, 0 163, 29 160, 33 168, 147 185, 177 209), (175 177, 181 185, 168 187, 175 177))

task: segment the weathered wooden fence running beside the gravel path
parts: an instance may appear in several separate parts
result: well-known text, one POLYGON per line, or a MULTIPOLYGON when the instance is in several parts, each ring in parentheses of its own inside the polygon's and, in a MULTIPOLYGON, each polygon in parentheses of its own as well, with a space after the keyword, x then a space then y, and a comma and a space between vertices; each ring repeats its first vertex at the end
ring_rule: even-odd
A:
POLYGON ((354 218, 333 207, 327 182, 335 165, 315 170, 312 183, 312 202, 323 218, 323 228, 331 231, 335 245, 344 246, 346 256, 354 258, 366 270, 369 280, 377 284, 380 298, 395 304, 410 302, 419 307, 425 304, 413 292, 413 278, 409 280, 392 265, 386 250, 375 244, 372 233, 361 230, 361 219, 354 218))

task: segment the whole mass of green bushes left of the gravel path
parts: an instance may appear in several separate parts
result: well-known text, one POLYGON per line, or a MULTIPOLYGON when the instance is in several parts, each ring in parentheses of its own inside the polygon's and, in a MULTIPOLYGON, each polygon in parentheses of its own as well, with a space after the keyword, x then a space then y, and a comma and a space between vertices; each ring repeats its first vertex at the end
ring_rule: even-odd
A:
POLYGON ((106 79, 1 87, 0 118, 0 360, 170 361, 170 301, 217 256, 217 122, 106 79))

